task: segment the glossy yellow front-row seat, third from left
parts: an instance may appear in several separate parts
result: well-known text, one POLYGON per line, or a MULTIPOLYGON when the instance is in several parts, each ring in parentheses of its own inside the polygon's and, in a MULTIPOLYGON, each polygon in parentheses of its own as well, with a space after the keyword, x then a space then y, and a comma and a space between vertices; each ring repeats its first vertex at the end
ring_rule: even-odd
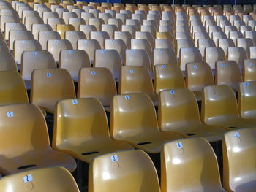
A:
POLYGON ((167 142, 161 151, 161 191, 225 192, 216 155, 206 139, 167 142))

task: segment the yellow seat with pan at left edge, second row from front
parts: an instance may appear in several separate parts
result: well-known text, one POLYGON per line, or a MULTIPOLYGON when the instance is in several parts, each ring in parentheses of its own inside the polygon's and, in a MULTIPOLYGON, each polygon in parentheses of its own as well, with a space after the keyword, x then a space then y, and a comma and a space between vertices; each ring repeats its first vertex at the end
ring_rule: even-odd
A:
POLYGON ((75 160, 50 147, 42 112, 34 104, 0 107, 1 163, 4 175, 48 166, 64 166, 73 172, 75 160), (17 126, 19 125, 19 126, 17 126))

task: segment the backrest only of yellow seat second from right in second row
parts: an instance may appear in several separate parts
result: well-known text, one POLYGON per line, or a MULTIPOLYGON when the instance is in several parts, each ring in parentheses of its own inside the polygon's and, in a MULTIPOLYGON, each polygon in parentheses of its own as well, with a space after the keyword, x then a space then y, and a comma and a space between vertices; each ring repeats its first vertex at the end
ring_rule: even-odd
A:
POLYGON ((225 116, 238 117, 236 95, 228 85, 212 85, 203 88, 201 120, 214 123, 225 116))

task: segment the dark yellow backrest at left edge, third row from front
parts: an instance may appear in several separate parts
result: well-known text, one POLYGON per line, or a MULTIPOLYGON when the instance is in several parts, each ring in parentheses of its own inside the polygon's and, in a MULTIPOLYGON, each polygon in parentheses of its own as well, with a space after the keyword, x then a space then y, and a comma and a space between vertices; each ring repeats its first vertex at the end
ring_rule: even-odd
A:
POLYGON ((29 103, 25 83, 17 71, 0 72, 0 105, 29 103))

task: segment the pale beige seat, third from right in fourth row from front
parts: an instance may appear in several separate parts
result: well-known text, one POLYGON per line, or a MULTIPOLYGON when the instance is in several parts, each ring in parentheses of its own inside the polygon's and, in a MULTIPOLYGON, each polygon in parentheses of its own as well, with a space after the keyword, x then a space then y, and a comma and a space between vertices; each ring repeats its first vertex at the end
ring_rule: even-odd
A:
POLYGON ((206 47, 204 58, 211 69, 215 69, 216 61, 225 60, 225 53, 221 47, 206 47))

